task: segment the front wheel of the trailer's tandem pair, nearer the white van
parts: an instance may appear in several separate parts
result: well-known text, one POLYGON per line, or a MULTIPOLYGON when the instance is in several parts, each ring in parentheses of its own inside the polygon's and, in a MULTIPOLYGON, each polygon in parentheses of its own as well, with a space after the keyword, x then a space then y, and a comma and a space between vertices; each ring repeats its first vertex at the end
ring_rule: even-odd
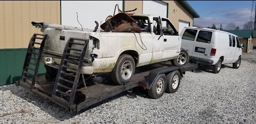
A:
POLYGON ((167 74, 167 93, 175 93, 180 86, 180 72, 175 70, 174 72, 167 74))

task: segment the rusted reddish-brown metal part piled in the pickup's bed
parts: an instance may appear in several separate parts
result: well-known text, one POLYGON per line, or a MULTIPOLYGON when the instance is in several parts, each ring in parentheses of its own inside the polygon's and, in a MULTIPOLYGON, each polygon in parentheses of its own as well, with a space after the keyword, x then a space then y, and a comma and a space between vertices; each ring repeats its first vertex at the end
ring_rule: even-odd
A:
POLYGON ((133 33, 140 33, 141 28, 135 23, 123 23, 117 26, 115 30, 112 32, 133 32, 133 33))

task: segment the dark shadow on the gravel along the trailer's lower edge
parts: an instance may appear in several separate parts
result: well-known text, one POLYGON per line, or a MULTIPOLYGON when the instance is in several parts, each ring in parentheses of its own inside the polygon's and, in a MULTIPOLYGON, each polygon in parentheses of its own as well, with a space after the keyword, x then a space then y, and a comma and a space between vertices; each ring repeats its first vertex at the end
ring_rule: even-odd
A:
MULTIPOLYGON (((73 118, 83 112, 90 111, 92 108, 98 107, 102 104, 108 103, 110 101, 121 98, 123 96, 126 96, 127 98, 130 98, 130 99, 137 99, 138 96, 140 96, 142 98, 149 98, 147 96, 146 90, 143 90, 143 88, 141 88, 141 87, 135 87, 132 89, 132 93, 123 92, 123 93, 115 95, 109 99, 106 99, 99 103, 96 103, 89 108, 83 109, 76 113, 71 113, 68 110, 66 110, 65 108, 62 108, 61 106, 59 106, 58 104, 55 104, 52 101, 44 99, 41 96, 35 94, 34 92, 28 91, 25 88, 20 87, 20 86, 15 86, 15 85, 2 86, 2 87, 0 87, 0 91, 11 91, 11 93, 13 95, 18 96, 19 98, 21 98, 23 100, 26 100, 26 102, 30 102, 30 103, 34 104, 36 107, 38 107, 42 111, 50 114, 50 116, 52 116, 55 119, 60 120, 60 121, 64 121, 64 120, 73 118)), ((13 103, 15 103, 15 102, 13 102, 13 103)), ((22 103, 22 106, 23 106, 23 104, 26 106, 26 103, 22 103)), ((30 107, 33 107, 33 105, 30 105, 30 107)), ((20 109, 20 108, 17 108, 17 109, 20 109)), ((36 114, 36 113, 33 113, 34 111, 31 111, 31 110, 33 110, 33 108, 29 108, 29 106, 27 106, 27 108, 25 107, 22 109, 28 110, 28 113, 30 113, 30 114, 36 114)))

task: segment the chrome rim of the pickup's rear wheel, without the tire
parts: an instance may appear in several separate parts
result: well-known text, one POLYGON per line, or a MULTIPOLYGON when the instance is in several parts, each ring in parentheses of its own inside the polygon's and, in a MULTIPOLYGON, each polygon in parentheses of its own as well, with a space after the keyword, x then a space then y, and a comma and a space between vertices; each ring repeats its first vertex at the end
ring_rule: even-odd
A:
POLYGON ((132 76, 132 63, 131 61, 127 60, 121 66, 121 76, 124 80, 129 79, 132 76))

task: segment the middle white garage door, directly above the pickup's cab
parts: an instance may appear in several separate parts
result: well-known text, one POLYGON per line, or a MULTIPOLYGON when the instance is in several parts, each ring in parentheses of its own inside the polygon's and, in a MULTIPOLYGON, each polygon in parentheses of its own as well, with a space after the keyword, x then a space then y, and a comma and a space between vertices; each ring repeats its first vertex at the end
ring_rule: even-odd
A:
POLYGON ((143 1, 143 14, 167 17, 167 4, 161 1, 143 1))

